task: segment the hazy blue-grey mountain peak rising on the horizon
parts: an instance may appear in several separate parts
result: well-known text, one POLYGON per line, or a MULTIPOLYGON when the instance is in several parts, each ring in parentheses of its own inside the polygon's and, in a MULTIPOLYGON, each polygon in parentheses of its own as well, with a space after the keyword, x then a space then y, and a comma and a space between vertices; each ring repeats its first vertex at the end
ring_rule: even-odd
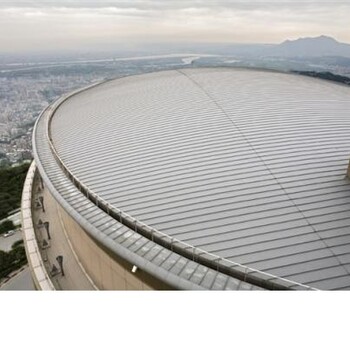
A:
POLYGON ((279 45, 264 50, 263 55, 278 57, 350 57, 350 45, 321 35, 316 38, 286 40, 279 45))

